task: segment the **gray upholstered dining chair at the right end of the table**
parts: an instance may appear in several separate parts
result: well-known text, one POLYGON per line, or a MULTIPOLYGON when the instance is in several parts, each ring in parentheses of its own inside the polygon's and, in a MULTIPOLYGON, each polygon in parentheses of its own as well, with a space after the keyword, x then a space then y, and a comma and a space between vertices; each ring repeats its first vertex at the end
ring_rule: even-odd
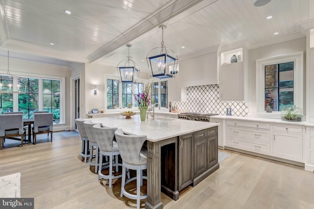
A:
POLYGON ((52 125, 53 125, 53 113, 38 113, 34 114, 34 126, 33 131, 33 141, 36 144, 37 134, 49 133, 52 142, 52 125))

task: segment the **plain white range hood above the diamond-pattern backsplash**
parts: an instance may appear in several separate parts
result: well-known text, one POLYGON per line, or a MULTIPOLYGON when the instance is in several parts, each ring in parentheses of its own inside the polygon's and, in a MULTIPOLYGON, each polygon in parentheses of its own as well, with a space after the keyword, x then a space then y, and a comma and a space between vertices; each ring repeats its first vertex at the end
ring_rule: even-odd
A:
POLYGON ((181 87, 218 84, 217 54, 213 52, 180 61, 181 87))

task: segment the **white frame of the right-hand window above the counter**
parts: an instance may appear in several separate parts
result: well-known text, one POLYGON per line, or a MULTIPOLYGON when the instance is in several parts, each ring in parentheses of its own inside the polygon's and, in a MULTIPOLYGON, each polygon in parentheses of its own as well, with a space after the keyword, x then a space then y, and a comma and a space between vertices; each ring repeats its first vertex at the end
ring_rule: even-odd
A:
POLYGON ((265 66, 293 62, 293 104, 303 107, 303 51, 256 60, 256 112, 280 114, 280 111, 266 112, 265 103, 265 66))

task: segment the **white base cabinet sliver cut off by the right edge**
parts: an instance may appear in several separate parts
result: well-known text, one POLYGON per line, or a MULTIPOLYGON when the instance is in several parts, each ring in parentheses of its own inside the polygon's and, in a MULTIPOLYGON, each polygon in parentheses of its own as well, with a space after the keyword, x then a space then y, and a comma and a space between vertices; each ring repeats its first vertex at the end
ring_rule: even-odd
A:
POLYGON ((314 171, 314 127, 307 127, 305 170, 314 171))

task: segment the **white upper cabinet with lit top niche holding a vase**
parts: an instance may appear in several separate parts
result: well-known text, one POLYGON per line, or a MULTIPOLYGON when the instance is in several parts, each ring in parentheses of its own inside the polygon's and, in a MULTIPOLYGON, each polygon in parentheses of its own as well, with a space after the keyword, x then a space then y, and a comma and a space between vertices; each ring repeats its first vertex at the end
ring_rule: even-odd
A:
POLYGON ((247 50, 238 48, 221 53, 221 65, 219 73, 219 100, 243 101, 247 97, 247 50), (232 54, 239 54, 240 59, 236 63, 227 63, 232 54))

